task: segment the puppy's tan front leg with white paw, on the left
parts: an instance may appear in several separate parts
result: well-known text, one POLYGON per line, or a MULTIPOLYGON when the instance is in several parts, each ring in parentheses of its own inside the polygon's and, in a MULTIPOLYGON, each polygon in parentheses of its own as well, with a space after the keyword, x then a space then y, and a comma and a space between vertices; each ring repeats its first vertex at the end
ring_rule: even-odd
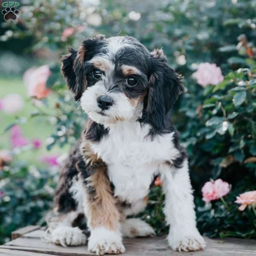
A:
POLYGON ((85 180, 84 200, 84 212, 91 233, 88 249, 97 255, 122 253, 125 247, 120 233, 120 214, 106 166, 100 164, 90 169, 91 174, 85 180))

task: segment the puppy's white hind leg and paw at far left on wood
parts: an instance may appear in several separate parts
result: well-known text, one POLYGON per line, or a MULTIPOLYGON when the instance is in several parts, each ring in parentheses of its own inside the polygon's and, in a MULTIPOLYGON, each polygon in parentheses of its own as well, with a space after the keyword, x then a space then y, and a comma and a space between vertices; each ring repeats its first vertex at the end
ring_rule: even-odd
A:
POLYGON ((86 244, 87 237, 79 227, 72 224, 78 217, 78 212, 55 213, 47 216, 48 229, 44 235, 45 241, 50 241, 62 246, 75 246, 86 244))

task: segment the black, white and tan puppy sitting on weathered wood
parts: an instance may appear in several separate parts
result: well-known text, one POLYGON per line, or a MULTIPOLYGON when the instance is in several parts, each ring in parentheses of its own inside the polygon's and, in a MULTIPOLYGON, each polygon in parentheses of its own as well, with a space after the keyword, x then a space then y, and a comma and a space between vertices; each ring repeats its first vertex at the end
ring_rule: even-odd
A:
POLYGON ((158 175, 170 247, 204 249, 186 151, 169 114, 184 89, 163 51, 149 52, 132 37, 97 35, 69 52, 62 73, 89 119, 61 170, 46 239, 67 246, 88 238, 89 250, 102 255, 124 252, 122 237, 154 235, 131 217, 145 208, 158 175))

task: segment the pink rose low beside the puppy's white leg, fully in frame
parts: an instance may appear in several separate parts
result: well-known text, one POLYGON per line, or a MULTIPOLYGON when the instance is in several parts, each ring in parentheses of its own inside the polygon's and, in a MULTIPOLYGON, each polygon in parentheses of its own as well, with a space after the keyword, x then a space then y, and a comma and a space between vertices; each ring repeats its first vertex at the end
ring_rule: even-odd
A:
POLYGON ((206 203, 209 203, 212 200, 217 200, 220 197, 227 195, 228 192, 230 192, 229 183, 221 179, 208 181, 202 188, 203 200, 206 203))

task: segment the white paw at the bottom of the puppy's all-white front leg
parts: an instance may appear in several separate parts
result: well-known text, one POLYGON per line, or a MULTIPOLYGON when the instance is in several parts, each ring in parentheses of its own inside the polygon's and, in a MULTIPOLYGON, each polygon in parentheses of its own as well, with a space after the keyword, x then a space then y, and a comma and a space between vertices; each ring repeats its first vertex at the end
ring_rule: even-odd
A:
POLYGON ((169 234, 168 243, 173 250, 180 252, 204 250, 206 247, 204 238, 199 234, 199 232, 192 235, 169 234))

